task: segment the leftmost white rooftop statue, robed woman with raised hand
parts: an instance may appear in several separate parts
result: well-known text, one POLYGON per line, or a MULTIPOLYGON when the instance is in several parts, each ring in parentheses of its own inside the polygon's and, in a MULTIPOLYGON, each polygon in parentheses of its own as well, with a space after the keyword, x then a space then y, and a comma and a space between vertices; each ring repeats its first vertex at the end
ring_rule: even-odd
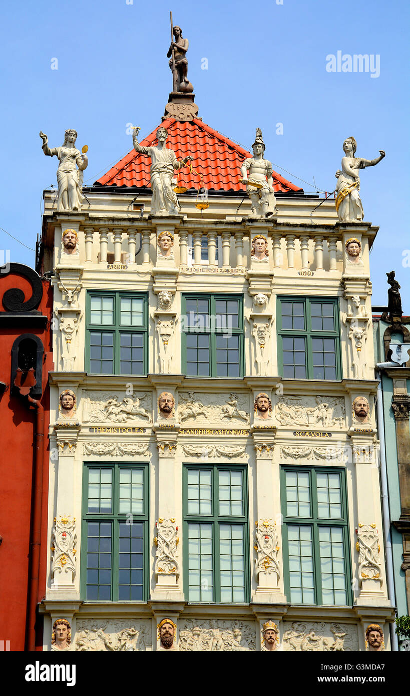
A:
POLYGON ((57 169, 57 210, 81 210, 81 203, 85 200, 82 187, 83 171, 88 166, 88 157, 85 154, 87 146, 83 148, 82 153, 74 147, 77 131, 72 128, 65 131, 64 143, 59 148, 49 148, 47 135, 41 131, 40 138, 44 154, 49 157, 56 155, 60 161, 57 169))

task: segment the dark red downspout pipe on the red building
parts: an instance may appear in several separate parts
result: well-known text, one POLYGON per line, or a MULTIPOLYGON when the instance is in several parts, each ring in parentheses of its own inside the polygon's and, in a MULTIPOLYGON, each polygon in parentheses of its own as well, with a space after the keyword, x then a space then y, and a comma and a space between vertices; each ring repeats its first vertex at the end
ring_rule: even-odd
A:
POLYGON ((39 401, 31 396, 29 403, 36 409, 36 430, 34 432, 34 471, 33 471, 33 517, 30 539, 30 579, 29 616, 27 622, 26 649, 36 649, 36 609, 40 576, 41 503, 42 503, 42 465, 44 461, 44 409, 39 401))

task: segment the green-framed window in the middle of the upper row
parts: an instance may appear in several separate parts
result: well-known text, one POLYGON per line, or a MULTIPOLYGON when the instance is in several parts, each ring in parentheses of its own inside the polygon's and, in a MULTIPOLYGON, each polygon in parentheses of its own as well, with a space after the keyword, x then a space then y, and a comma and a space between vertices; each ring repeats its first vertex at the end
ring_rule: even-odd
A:
POLYGON ((182 372, 189 377, 243 377, 242 295, 182 296, 182 372))

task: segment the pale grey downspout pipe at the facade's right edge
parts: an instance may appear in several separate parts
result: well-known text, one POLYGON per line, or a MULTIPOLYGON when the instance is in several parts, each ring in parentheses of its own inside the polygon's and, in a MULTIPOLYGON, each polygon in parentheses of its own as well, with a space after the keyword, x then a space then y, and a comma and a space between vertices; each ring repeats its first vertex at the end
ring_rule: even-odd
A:
MULTIPOLYGON (((394 363, 377 363, 376 369, 378 372, 383 369, 383 367, 397 367, 394 363)), ((386 440, 384 437, 384 412, 383 412, 383 390, 381 389, 381 376, 376 375, 377 378, 377 398, 376 398, 376 409, 377 409, 377 427, 379 432, 380 441, 380 482, 381 482, 381 507, 383 512, 383 528, 384 528, 384 539, 386 544, 386 574, 387 574, 387 586, 388 594, 391 599, 392 605, 396 606, 396 596, 395 596, 395 584, 394 584, 394 574, 393 574, 393 549, 391 546, 391 523, 390 523, 390 510, 388 507, 388 485, 387 485, 387 466, 386 466, 386 440)), ((390 624, 390 635, 391 635, 391 645, 393 651, 398 651, 399 644, 397 642, 397 635, 395 633, 395 624, 390 624)))

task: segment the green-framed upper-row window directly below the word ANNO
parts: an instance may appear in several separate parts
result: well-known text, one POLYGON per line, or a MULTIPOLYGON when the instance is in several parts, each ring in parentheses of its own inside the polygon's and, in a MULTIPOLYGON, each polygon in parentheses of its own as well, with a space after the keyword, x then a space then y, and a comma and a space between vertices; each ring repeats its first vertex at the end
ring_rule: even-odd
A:
POLYGON ((91 374, 146 374, 147 296, 135 292, 87 293, 86 369, 91 374))

